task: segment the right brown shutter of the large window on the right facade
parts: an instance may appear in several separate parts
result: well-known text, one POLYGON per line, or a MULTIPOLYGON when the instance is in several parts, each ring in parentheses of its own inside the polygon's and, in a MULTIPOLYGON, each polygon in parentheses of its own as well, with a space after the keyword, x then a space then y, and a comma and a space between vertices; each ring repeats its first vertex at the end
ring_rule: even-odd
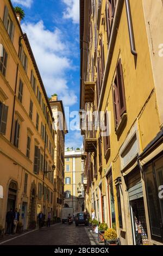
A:
POLYGON ((118 87, 118 97, 119 97, 119 105, 120 105, 120 116, 126 113, 126 100, 124 95, 124 82, 123 82, 123 70, 121 59, 117 65, 117 87, 118 87))

